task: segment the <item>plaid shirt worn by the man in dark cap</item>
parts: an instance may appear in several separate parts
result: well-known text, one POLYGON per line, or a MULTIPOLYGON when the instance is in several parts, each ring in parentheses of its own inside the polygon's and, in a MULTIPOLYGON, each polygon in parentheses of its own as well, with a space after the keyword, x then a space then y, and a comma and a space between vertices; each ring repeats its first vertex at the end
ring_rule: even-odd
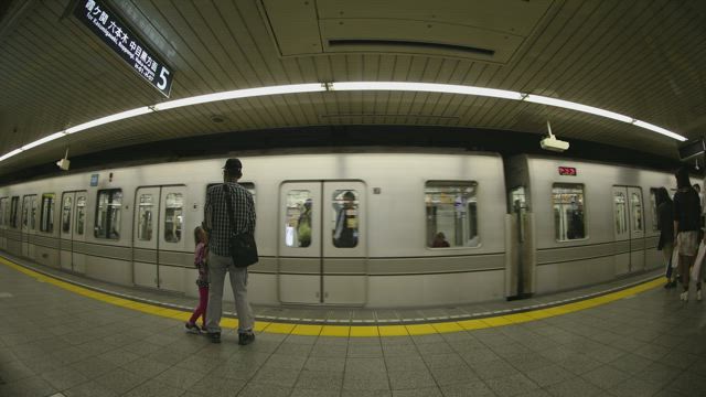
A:
POLYGON ((255 234, 255 202, 253 195, 245 187, 235 182, 227 182, 228 192, 233 205, 233 219, 235 227, 231 226, 228 218, 228 204, 226 203, 223 184, 208 187, 206 204, 204 205, 204 219, 208 230, 208 250, 220 256, 231 256, 228 239, 231 232, 249 232, 255 234))

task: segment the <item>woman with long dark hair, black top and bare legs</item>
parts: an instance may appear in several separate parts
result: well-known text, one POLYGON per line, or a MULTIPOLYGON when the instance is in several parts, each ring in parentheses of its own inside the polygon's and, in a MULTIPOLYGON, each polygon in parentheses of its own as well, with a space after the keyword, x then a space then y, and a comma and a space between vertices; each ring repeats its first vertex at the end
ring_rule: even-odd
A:
MULTIPOLYGON (((675 246, 680 249, 680 273, 684 292, 680 296, 688 301, 689 268, 698 249, 698 233, 700 230, 702 207, 698 193, 692 187, 688 169, 683 167, 676 171, 676 194, 674 194, 674 232, 675 246)), ((696 299, 702 300, 702 283, 696 280, 696 299)))

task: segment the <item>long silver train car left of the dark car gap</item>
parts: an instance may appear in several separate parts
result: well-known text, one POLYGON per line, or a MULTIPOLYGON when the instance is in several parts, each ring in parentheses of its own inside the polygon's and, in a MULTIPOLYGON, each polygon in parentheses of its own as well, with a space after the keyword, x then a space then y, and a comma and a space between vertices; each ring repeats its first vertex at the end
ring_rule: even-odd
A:
MULTIPOLYGON (((253 303, 424 307, 506 296, 499 154, 242 160, 260 253, 250 268, 253 303)), ((222 182, 224 161, 1 187, 1 248, 94 279, 195 296, 192 230, 203 221, 206 189, 222 182)))

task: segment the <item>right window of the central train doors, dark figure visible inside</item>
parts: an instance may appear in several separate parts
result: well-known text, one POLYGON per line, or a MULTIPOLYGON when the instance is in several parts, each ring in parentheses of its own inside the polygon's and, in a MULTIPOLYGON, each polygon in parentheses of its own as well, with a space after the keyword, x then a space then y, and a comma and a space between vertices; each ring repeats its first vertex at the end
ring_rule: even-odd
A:
POLYGON ((353 248, 357 246, 357 207, 359 193, 354 190, 333 191, 331 210, 334 215, 333 246, 336 248, 353 248))

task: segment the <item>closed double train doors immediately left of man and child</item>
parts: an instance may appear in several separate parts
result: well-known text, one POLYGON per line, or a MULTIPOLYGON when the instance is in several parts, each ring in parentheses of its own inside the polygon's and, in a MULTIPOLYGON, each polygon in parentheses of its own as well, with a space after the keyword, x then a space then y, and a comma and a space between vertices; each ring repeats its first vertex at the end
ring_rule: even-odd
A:
POLYGON ((183 288, 183 186, 139 187, 135 196, 132 282, 179 291, 183 288))

